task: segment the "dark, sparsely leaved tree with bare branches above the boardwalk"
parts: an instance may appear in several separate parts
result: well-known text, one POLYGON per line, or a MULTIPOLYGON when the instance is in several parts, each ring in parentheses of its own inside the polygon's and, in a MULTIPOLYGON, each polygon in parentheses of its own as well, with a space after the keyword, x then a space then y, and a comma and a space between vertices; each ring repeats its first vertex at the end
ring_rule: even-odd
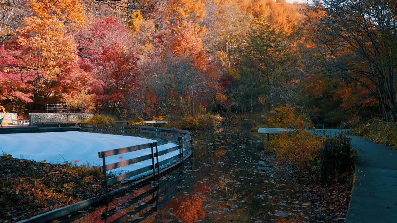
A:
POLYGON ((314 38, 321 73, 357 81, 378 101, 384 121, 397 121, 396 10, 381 0, 325 0, 314 38))

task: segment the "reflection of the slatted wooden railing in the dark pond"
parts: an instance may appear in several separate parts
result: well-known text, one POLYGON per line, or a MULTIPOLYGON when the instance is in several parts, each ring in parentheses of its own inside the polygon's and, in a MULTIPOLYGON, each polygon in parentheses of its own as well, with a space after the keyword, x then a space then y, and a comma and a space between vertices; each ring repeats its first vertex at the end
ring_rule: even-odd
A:
POLYGON ((141 222, 155 213, 182 188, 191 176, 191 158, 177 169, 164 173, 155 181, 146 182, 139 188, 111 198, 106 204, 69 215, 61 222, 73 223, 122 223, 141 222))

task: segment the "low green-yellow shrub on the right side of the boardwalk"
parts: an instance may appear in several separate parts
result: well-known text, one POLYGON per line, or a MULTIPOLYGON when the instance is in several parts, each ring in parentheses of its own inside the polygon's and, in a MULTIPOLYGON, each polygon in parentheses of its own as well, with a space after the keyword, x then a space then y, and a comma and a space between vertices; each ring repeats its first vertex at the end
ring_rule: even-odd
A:
POLYGON ((389 145, 391 150, 397 150, 397 123, 372 119, 364 125, 359 125, 351 133, 369 138, 374 142, 389 145))

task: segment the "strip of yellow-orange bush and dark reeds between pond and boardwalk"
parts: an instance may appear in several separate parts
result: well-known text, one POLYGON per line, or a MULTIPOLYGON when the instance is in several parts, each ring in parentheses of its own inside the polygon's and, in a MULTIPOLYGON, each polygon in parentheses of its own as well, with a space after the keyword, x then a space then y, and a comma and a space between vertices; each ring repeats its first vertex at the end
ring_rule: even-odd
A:
POLYGON ((297 183, 307 188, 312 205, 324 210, 330 221, 347 215, 354 182, 355 150, 344 133, 324 138, 304 130, 281 134, 265 142, 265 148, 287 165, 297 183))

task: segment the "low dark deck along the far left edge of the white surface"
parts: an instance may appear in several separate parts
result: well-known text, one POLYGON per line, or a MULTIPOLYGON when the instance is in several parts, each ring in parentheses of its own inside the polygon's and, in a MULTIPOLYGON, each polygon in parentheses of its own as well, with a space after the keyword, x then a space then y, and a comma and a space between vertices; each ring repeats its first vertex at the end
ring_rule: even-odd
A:
POLYGON ((0 134, 9 133, 48 133, 48 132, 66 132, 66 131, 80 131, 80 127, 37 127, 37 126, 21 126, 21 125, 7 125, 0 128, 0 134))

